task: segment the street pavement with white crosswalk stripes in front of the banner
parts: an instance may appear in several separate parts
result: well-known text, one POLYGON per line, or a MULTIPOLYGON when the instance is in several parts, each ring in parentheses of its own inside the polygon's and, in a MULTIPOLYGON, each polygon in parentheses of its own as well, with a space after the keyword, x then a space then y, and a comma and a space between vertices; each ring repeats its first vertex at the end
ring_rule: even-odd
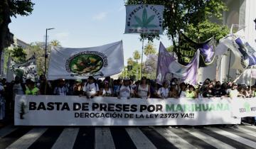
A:
POLYGON ((5 126, 0 148, 256 148, 256 126, 5 126))

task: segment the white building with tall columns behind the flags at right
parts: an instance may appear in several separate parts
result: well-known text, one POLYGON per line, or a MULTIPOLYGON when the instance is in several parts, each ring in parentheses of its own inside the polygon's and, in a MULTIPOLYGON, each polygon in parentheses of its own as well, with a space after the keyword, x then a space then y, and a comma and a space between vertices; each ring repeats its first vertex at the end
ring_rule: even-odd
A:
MULTIPOLYGON (((223 24, 227 25, 229 28, 231 28, 233 24, 240 25, 240 28, 233 27, 233 31, 244 29, 245 40, 256 49, 256 30, 254 22, 256 18, 256 0, 225 0, 224 2, 228 6, 228 11, 223 13, 223 24)), ((199 82, 203 82, 206 78, 216 78, 220 81, 227 79, 229 62, 231 62, 230 65, 232 65, 233 57, 233 54, 231 54, 230 59, 230 53, 228 52, 222 56, 221 60, 219 57, 214 65, 200 68, 198 73, 199 82)), ((230 69, 229 75, 235 79, 237 77, 236 73, 237 70, 230 69)), ((250 84, 249 76, 248 74, 242 75, 238 83, 250 84)))

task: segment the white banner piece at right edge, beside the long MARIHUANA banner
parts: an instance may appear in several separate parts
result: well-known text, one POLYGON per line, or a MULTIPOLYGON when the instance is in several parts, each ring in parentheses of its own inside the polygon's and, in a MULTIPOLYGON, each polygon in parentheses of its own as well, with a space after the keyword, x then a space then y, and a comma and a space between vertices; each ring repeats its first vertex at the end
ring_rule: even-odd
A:
POLYGON ((232 102, 233 116, 235 117, 255 117, 256 116, 256 98, 234 99, 232 102))

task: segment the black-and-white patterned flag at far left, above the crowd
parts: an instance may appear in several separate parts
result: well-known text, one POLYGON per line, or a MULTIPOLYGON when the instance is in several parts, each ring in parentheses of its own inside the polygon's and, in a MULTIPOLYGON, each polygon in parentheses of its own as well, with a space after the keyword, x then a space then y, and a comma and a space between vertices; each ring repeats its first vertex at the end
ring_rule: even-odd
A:
POLYGON ((37 81, 36 55, 32 55, 32 57, 23 63, 12 62, 11 71, 14 72, 14 75, 23 78, 23 80, 32 79, 33 81, 37 81))

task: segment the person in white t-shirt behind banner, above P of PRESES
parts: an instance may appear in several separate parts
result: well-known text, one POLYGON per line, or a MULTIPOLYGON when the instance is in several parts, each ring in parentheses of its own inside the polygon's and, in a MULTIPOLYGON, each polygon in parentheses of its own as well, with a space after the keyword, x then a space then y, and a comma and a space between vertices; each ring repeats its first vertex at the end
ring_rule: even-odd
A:
POLYGON ((99 94, 99 91, 99 86, 97 83, 95 83, 94 77, 88 77, 88 82, 85 83, 85 86, 83 87, 83 92, 87 96, 87 99, 97 96, 99 94))

